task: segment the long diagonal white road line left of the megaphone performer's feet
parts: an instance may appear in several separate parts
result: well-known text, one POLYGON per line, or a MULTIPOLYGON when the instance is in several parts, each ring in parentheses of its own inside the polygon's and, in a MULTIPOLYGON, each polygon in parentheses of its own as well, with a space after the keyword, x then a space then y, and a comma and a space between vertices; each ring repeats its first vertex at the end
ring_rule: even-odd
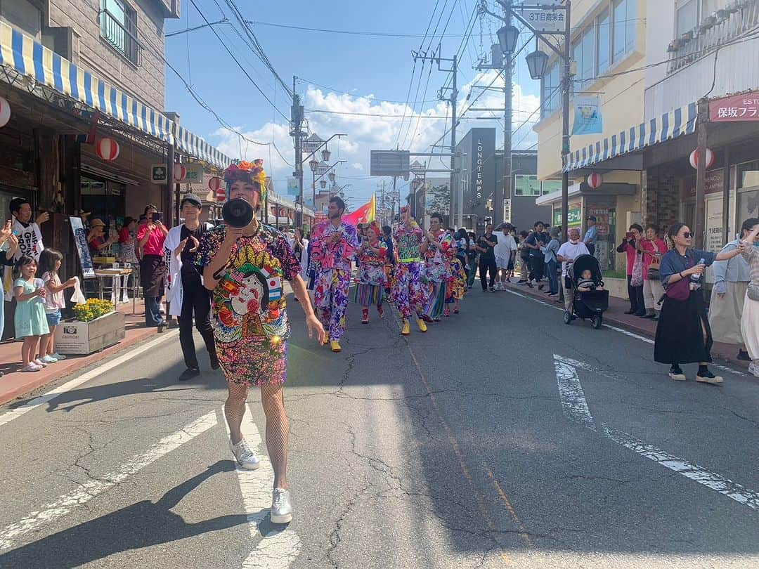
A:
POLYGON ((58 517, 65 516, 77 506, 86 504, 96 496, 106 492, 118 483, 123 482, 132 474, 138 473, 144 467, 157 461, 160 457, 190 442, 192 439, 206 432, 216 425, 216 411, 211 411, 200 419, 194 420, 172 435, 168 435, 156 442, 148 451, 143 454, 137 454, 124 464, 121 464, 117 470, 104 474, 99 479, 91 479, 86 483, 80 484, 79 487, 69 494, 62 495, 56 501, 46 505, 40 511, 32 512, 23 520, 11 523, 9 526, 0 530, 0 551, 8 549, 13 545, 15 539, 30 533, 49 523, 58 517))

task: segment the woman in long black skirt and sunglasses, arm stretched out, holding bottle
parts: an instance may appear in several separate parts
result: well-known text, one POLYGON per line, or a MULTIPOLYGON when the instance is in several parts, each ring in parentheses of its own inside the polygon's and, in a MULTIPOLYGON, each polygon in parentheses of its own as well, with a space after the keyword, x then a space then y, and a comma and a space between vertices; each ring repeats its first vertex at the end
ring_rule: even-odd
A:
POLYGON ((723 379, 709 371, 712 337, 704 307, 704 270, 714 261, 726 261, 739 255, 744 247, 726 253, 692 249, 693 234, 687 225, 676 223, 669 228, 675 248, 663 256, 660 278, 666 295, 657 325, 653 360, 669 363, 669 377, 684 382, 681 363, 698 362, 696 381, 717 384, 723 379))

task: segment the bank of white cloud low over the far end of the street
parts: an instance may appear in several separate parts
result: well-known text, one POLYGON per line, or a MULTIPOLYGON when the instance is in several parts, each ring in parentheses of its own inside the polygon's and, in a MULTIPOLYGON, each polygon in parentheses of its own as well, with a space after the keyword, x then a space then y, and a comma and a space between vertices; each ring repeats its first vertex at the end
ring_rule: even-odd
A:
MULTIPOLYGON (((472 88, 472 84, 489 85, 495 77, 494 71, 477 74, 473 83, 461 87, 458 102, 458 112, 464 112, 471 101, 481 93, 472 88), (467 96, 470 95, 469 100, 467 96)), ((494 87, 502 87, 503 80, 499 77, 493 82, 494 87)), ((515 85, 512 105, 515 109, 513 130, 517 130, 513 143, 515 149, 527 148, 537 141, 537 135, 531 125, 537 121, 536 109, 540 99, 534 95, 524 95, 521 88, 515 85), (524 125, 520 124, 526 121, 524 125)), ((502 108, 502 92, 488 90, 483 93, 475 108, 502 108)), ((354 206, 364 203, 376 190, 379 178, 368 176, 370 150, 395 148, 396 143, 402 149, 411 152, 430 152, 430 145, 438 142, 450 126, 449 109, 446 102, 437 102, 429 108, 414 111, 411 105, 378 101, 373 95, 357 96, 348 94, 325 93, 314 86, 309 86, 304 96, 307 126, 310 132, 315 132, 326 139, 332 134, 345 133, 348 137, 334 139, 329 143, 332 150, 332 162, 346 160, 347 164, 336 168, 339 185, 347 183, 352 187, 346 190, 348 196, 353 196, 354 206), (313 112, 329 111, 329 112, 313 112), (347 114, 348 113, 348 114, 347 114), (404 118, 405 115, 405 118, 404 118), (419 118, 419 116, 422 118, 419 118), (427 118, 432 117, 432 118, 427 118)), ((502 113, 468 112, 458 124, 458 139, 460 140, 472 127, 496 127, 496 140, 502 140, 502 113), (493 116, 493 121, 471 120, 475 116, 493 116)), ((267 122, 258 128, 237 128, 244 138, 260 143, 273 143, 282 152, 282 156, 272 146, 260 146, 250 143, 231 130, 219 129, 212 140, 216 146, 228 156, 241 159, 263 158, 266 170, 275 180, 279 191, 285 187, 285 179, 293 171, 294 151, 292 139, 289 136, 289 125, 267 122), (286 159, 286 161, 285 161, 286 159)), ((445 142, 449 142, 450 134, 446 134, 445 142)), ((437 148, 440 151, 440 148, 437 148)), ((447 159, 446 159, 447 160, 447 159)), ((306 171, 307 187, 309 172, 306 171)))

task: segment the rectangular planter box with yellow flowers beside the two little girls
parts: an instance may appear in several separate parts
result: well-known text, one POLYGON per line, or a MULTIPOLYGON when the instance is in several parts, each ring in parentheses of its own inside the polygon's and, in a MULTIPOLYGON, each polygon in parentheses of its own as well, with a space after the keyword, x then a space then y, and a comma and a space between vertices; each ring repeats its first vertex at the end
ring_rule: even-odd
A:
POLYGON ((76 319, 55 329, 55 351, 87 355, 118 344, 126 336, 124 313, 114 311, 108 300, 90 298, 74 307, 76 319))

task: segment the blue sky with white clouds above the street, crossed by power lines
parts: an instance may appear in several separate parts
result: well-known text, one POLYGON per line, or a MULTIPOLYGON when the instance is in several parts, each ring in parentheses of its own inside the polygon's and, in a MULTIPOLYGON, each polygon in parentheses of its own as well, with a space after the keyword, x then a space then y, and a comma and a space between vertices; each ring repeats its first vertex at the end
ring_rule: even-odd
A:
MULTIPOLYGON (((235 32, 235 28, 241 28, 232 15, 227 0, 194 2, 210 21, 227 17, 235 22, 235 27, 222 24, 214 29, 263 93, 289 118, 291 102, 286 98, 284 90, 276 86, 272 74, 235 32)), ((346 190, 352 198, 351 205, 358 206, 367 201, 373 190, 376 190, 376 184, 381 183, 381 178, 369 177, 371 149, 389 148, 398 143, 402 148, 426 152, 429 151, 430 143, 445 132, 446 120, 442 117, 449 114, 449 110, 436 99, 439 87, 449 80, 449 74, 438 71, 430 63, 424 64, 424 67, 417 63, 409 95, 414 70, 411 51, 420 49, 420 46, 432 51, 439 44, 443 57, 450 57, 457 52, 474 11, 474 0, 386 0, 381 4, 333 0, 257 2, 255 5, 236 0, 235 3, 246 20, 257 22, 253 24, 257 40, 285 83, 291 86, 293 75, 301 77, 296 86, 304 99, 311 130, 323 138, 335 132, 348 133, 345 142, 339 146, 332 145, 330 149, 333 151, 332 162, 337 159, 348 161, 339 167, 337 174, 340 185, 353 184, 346 190), (437 25, 437 37, 424 39, 424 44, 422 37, 311 32, 268 25, 423 35, 430 19, 430 35, 437 25), (440 37, 448 20, 446 34, 440 37), (405 105, 407 99, 409 104, 405 105), (415 101, 418 101, 416 105, 415 101), (412 108, 414 118, 407 116, 402 120, 403 112, 411 115, 412 108), (309 112, 319 110, 331 112, 309 112), (416 118, 420 113, 440 118, 416 118)), ((493 2, 489 3, 495 9, 493 2)), ((167 20, 166 33, 203 24, 203 17, 190 0, 183 2, 182 11, 180 20, 167 20)), ((490 52, 490 44, 496 41, 495 31, 500 25, 502 24, 487 16, 483 19, 475 17, 471 37, 461 50, 462 61, 458 74, 460 110, 468 105, 465 97, 473 81, 487 85, 493 79, 493 72, 478 76, 472 67, 473 61, 476 62, 482 52, 480 45, 484 52, 490 52)), ((527 39, 527 33, 523 33, 523 40, 527 39)), ((194 100, 182 80, 169 69, 166 72, 166 108, 178 112, 185 127, 230 156, 263 158, 267 162, 267 170, 273 175, 277 190, 284 193, 285 179, 293 169, 287 162, 292 163, 294 158, 287 121, 244 76, 235 59, 220 45, 213 30, 206 28, 168 37, 166 57, 184 80, 191 84, 196 95, 222 121, 238 130, 242 137, 223 128, 211 112, 194 100), (273 141, 276 148, 270 144, 257 145, 250 140, 257 143, 273 141), (278 155, 277 149, 282 157, 278 155)), ((514 79, 518 85, 514 99, 516 127, 529 118, 537 107, 538 83, 529 78, 522 56, 518 58, 514 79)), ((496 82, 495 85, 502 85, 502 82, 496 82)), ((472 96, 477 93, 480 90, 474 90, 472 96)), ((502 93, 489 92, 475 106, 501 107, 502 93)), ((465 118, 478 115, 487 114, 470 112, 465 118)), ((499 129, 497 140, 502 140, 502 126, 498 122, 491 123, 487 120, 462 121, 458 127, 459 137, 471 127, 491 124, 499 129)), ((530 124, 525 124, 515 136, 515 143, 520 140, 519 146, 523 148, 531 146, 537 140, 531 132, 530 124)))

